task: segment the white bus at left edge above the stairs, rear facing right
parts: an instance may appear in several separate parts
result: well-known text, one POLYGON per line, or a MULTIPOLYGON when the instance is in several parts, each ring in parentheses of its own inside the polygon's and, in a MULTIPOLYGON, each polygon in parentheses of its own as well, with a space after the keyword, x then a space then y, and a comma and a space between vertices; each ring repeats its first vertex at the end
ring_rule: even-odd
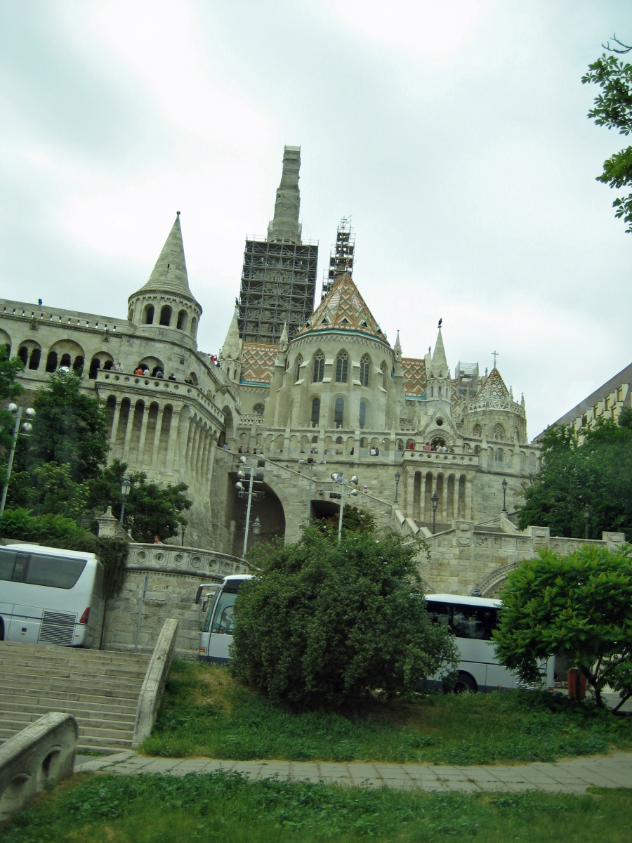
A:
POLYGON ((0 641, 99 647, 103 581, 94 553, 0 547, 0 641))

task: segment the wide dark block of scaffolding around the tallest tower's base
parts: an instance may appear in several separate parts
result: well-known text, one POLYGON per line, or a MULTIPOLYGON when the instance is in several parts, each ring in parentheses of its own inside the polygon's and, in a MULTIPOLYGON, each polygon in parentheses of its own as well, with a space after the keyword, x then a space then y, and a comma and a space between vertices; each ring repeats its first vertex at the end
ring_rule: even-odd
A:
POLYGON ((284 323, 292 339, 313 312, 318 243, 246 239, 239 291, 239 336, 278 343, 284 323))

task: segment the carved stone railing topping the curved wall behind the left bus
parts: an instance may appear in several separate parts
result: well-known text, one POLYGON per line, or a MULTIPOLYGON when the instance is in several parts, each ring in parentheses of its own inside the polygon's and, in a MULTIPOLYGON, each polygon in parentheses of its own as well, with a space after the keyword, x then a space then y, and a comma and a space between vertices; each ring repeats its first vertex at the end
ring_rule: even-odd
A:
POLYGON ((179 545, 142 545, 132 542, 127 556, 130 571, 197 574, 221 580, 229 574, 247 574, 250 566, 240 556, 179 545))

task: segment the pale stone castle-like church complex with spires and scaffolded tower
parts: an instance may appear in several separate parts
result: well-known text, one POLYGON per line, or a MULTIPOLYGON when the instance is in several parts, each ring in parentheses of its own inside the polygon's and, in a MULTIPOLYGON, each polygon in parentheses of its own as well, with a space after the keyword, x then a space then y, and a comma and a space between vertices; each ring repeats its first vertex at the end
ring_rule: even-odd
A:
POLYGON ((459 545, 461 534, 486 525, 516 538, 516 552, 517 539, 528 538, 511 522, 539 459, 524 398, 514 399, 495 366, 480 373, 477 363, 455 362, 458 337, 444 345, 441 327, 427 353, 399 334, 391 343, 362 297, 341 229, 345 247, 332 253, 324 298, 314 303, 318 247, 301 239, 299 164, 298 148, 286 148, 275 217, 266 237, 247 241, 217 357, 197 346, 200 319, 213 317, 191 292, 179 215, 125 319, 3 301, 0 342, 23 360, 27 390, 56 368, 83 371, 84 388, 108 414, 110 459, 189 485, 187 545, 241 555, 238 456, 247 464, 263 456, 264 495, 252 505, 260 540, 297 540, 308 517, 337 513, 340 499, 331 496, 349 493, 356 475, 358 494, 346 500, 378 524, 427 536, 434 529, 433 547, 442 537, 461 548, 447 568, 442 551, 441 576, 423 563, 428 587, 470 590, 509 556, 502 542, 499 552, 473 538, 459 545))

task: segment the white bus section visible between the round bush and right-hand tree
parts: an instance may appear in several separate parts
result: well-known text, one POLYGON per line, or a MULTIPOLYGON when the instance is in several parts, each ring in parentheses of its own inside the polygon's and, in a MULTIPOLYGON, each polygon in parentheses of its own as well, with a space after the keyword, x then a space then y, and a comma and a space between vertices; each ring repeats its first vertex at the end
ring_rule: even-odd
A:
MULTIPOLYGON (((475 691, 525 687, 514 671, 498 663, 492 631, 498 626, 500 600, 465 597, 460 594, 428 594, 426 608, 431 619, 453 632, 461 653, 458 678, 454 685, 457 694, 475 691)), ((554 688, 555 659, 538 664, 542 676, 541 687, 554 688)), ((437 677, 428 681, 429 688, 440 688, 437 677)), ((529 686, 532 687, 532 686, 529 686)))

